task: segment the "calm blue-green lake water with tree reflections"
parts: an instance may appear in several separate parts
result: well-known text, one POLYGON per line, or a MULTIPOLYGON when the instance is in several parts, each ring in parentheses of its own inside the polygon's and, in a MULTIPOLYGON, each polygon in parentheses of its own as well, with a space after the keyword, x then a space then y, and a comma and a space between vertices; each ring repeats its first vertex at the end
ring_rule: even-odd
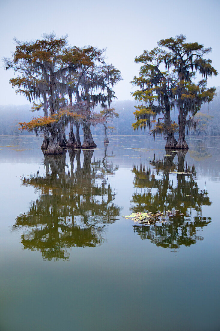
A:
POLYGON ((0 137, 0 330, 220 330, 220 138, 94 141, 0 137))

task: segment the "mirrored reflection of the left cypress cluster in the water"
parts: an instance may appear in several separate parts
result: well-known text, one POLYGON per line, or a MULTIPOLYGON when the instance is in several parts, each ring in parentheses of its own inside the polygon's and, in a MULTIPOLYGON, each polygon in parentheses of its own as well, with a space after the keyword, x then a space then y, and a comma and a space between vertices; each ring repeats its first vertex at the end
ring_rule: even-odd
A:
POLYGON ((40 194, 31 202, 29 211, 16 218, 14 227, 22 227, 24 248, 39 250, 44 259, 68 260, 68 248, 101 245, 104 226, 120 214, 108 178, 91 167, 93 151, 83 151, 82 168, 80 153, 69 150, 69 173, 65 172, 66 153, 45 155, 46 175, 37 173, 22 179, 22 185, 31 185, 40 194))

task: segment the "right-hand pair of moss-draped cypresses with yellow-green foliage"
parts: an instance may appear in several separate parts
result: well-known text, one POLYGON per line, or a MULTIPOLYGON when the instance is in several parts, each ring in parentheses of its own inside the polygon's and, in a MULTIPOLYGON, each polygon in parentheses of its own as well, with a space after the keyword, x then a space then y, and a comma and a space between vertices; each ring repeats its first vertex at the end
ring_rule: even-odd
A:
POLYGON ((151 133, 165 134, 165 148, 188 149, 185 128, 196 122, 187 116, 194 116, 215 95, 215 87, 207 88, 207 78, 217 75, 217 71, 212 61, 204 58, 211 48, 197 42, 187 43, 183 35, 162 39, 158 46, 135 58, 135 62, 143 65, 132 81, 140 89, 132 95, 142 104, 136 106, 133 128, 150 128, 156 122, 151 133), (195 79, 196 74, 201 75, 200 81, 195 79), (174 108, 179 113, 177 143, 173 136, 177 124, 170 120, 170 110, 174 108))

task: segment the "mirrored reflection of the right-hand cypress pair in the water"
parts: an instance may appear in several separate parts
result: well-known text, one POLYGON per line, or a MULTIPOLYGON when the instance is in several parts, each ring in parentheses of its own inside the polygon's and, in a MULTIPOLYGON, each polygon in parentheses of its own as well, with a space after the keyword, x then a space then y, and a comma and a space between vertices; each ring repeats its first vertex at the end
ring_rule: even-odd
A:
POLYGON ((187 151, 166 152, 163 159, 155 160, 154 156, 147 169, 133 167, 136 192, 132 195, 130 210, 132 213, 179 210, 182 215, 170 217, 166 223, 134 226, 141 239, 177 250, 180 245, 190 246, 197 240, 203 240, 197 231, 209 224, 211 218, 202 216, 202 206, 210 206, 211 202, 207 190, 198 187, 195 166, 189 167, 186 163, 184 169, 187 151), (177 164, 174 162, 176 155, 177 164))

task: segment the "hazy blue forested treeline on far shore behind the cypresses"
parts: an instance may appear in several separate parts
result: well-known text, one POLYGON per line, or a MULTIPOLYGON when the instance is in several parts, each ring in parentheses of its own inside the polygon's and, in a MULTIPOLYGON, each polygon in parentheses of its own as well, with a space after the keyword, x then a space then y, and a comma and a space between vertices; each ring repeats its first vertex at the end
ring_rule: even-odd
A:
MULTIPOLYGON (((196 114, 198 125, 196 130, 193 129, 189 134, 204 135, 204 136, 218 136, 220 135, 220 87, 216 88, 217 95, 209 105, 203 105, 201 110, 196 114)), ((110 130, 109 134, 113 135, 133 135, 142 134, 140 130, 133 131, 131 124, 135 121, 133 112, 135 101, 124 100, 116 101, 112 107, 116 109, 119 114, 119 118, 114 118, 112 122, 109 122, 109 126, 114 126, 114 130, 110 130)), ((0 106, 0 135, 18 135, 18 134, 30 134, 28 132, 21 133, 18 130, 18 122, 30 121, 33 116, 42 115, 43 113, 31 113, 30 105, 23 106, 0 106)), ((97 108, 99 112, 101 108, 97 108)), ((178 123, 177 112, 172 112, 171 117, 178 123)), ((66 133, 68 134, 68 129, 66 133)), ((146 133, 149 132, 146 129, 146 133)), ((82 132, 80 132, 82 134, 82 132)), ((92 134, 103 134, 103 125, 97 125, 92 128, 92 134)))

